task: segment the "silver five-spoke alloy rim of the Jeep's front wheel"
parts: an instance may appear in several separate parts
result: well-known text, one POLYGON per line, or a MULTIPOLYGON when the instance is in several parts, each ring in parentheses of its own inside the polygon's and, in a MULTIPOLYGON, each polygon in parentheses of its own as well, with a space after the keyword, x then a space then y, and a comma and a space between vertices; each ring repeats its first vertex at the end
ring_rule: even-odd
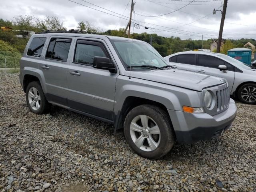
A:
POLYGON ((143 151, 153 151, 160 144, 160 129, 146 115, 138 115, 130 124, 130 135, 134 144, 143 151))

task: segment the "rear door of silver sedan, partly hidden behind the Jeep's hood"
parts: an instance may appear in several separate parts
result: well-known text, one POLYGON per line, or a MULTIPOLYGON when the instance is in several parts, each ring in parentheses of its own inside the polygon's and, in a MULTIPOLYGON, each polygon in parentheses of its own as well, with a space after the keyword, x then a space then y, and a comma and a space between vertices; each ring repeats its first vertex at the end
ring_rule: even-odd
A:
POLYGON ((169 58, 170 65, 177 69, 196 71, 195 54, 179 54, 169 58))

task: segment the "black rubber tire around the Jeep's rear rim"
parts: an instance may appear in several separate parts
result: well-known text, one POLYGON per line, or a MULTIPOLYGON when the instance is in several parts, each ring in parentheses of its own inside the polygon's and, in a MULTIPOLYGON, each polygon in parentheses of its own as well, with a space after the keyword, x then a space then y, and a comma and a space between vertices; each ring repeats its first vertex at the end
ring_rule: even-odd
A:
POLYGON ((48 103, 48 101, 46 100, 46 98, 44 96, 44 92, 42 90, 42 87, 40 86, 40 83, 37 81, 33 81, 28 84, 27 89, 26 89, 26 102, 27 102, 29 110, 35 114, 44 114, 44 113, 48 112, 48 110, 50 109, 50 104, 48 103), (28 93, 29 93, 30 88, 33 88, 33 87, 38 90, 38 93, 40 95, 40 107, 38 108, 38 110, 34 110, 29 104, 28 93))

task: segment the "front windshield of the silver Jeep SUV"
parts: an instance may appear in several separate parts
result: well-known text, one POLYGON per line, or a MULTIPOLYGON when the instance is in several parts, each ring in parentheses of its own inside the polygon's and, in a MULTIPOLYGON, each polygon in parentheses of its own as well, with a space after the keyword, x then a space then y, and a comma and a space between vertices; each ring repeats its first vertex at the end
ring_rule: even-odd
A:
POLYGON ((146 42, 130 40, 111 40, 123 65, 130 66, 150 65, 155 67, 169 66, 162 56, 146 42))

